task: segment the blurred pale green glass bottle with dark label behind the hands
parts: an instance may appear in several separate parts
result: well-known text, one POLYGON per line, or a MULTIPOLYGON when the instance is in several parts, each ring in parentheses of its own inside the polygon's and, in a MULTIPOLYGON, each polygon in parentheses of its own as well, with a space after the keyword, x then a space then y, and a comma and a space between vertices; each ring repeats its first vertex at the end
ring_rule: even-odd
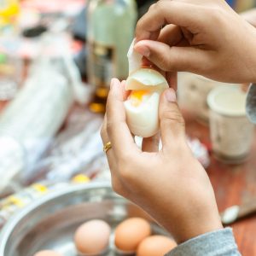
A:
POLYGON ((90 0, 87 6, 88 80, 95 86, 90 110, 104 113, 110 80, 128 76, 127 51, 134 37, 134 0, 90 0))

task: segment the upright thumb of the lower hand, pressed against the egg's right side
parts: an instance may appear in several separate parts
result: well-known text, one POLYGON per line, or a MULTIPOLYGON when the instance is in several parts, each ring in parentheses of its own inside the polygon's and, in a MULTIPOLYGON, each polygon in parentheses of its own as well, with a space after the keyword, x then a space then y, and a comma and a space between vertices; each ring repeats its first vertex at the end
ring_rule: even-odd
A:
POLYGON ((185 142, 185 123, 177 107, 176 94, 172 88, 166 89, 160 97, 160 131, 163 148, 169 148, 177 140, 185 142))

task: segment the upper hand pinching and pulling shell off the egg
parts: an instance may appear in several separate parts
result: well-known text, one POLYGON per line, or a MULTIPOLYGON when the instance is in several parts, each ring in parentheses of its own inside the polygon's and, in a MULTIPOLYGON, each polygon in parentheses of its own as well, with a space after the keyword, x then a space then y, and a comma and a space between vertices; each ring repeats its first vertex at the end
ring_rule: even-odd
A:
POLYGON ((136 38, 134 49, 166 72, 256 81, 256 30, 224 0, 160 0, 138 21, 136 38))

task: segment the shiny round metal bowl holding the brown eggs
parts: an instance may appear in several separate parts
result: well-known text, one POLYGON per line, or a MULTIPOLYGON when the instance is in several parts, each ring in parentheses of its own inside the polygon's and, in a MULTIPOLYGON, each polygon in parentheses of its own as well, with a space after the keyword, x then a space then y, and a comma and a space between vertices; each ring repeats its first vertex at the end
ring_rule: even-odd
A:
MULTIPOLYGON (((63 256, 79 255, 73 234, 80 224, 101 218, 114 230, 120 221, 134 216, 147 218, 138 207, 113 193, 109 183, 67 186, 9 219, 0 234, 0 256, 32 256, 44 249, 63 256)), ((156 234, 167 235, 153 222, 152 229, 156 234)), ((113 247, 113 232, 105 255, 118 255, 113 247)))

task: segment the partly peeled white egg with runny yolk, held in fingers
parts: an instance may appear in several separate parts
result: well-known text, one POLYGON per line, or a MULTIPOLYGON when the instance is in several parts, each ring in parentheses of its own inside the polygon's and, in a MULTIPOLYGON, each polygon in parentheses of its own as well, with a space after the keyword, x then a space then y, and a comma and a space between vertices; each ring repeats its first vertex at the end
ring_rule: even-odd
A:
POLYGON ((142 67, 130 74, 125 90, 131 90, 131 94, 124 104, 133 135, 152 137, 159 131, 160 95, 168 87, 165 77, 154 69, 142 67))

